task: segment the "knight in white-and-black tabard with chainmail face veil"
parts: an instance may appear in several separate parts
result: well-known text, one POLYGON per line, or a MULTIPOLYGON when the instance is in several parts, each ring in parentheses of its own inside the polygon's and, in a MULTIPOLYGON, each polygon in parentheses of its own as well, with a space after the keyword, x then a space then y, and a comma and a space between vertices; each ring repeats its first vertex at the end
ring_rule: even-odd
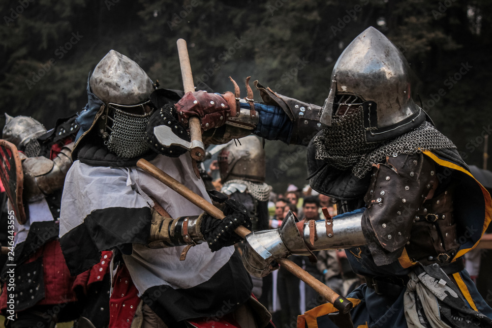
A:
MULTIPOLYGON (((250 227, 246 208, 222 199, 226 217, 216 220, 136 167, 145 158, 211 201, 189 152, 163 147, 154 135, 161 127, 164 136, 189 142, 174 106, 183 92, 157 89, 137 63, 114 50, 90 74, 87 92, 76 119, 81 131, 63 191, 60 241, 71 274, 99 262, 101 251, 115 250, 110 327, 269 325, 232 246, 241 240, 234 229, 250 227)), ((228 115, 220 95, 204 97, 217 102, 212 117, 228 115)))

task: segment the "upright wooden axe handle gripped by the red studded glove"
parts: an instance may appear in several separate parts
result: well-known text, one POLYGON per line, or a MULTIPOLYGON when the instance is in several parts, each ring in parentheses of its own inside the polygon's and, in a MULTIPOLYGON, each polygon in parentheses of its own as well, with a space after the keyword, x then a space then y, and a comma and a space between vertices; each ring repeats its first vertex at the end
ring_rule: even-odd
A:
MULTIPOLYGON (((178 54, 180 56, 181 76, 183 77, 184 93, 193 92, 195 86, 193 84, 193 75, 191 74, 191 65, 189 63, 188 49, 186 41, 178 39, 178 54)), ((202 142, 202 130, 200 119, 191 117, 189 119, 189 133, 191 137, 191 157, 196 160, 205 158, 205 149, 202 142)))

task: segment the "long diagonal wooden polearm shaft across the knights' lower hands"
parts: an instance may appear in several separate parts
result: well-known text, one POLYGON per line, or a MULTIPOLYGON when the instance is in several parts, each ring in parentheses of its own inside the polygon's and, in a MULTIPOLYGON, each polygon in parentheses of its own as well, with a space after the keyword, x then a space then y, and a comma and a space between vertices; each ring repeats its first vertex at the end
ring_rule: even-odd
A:
MULTIPOLYGON (((145 172, 149 173, 151 176, 153 176, 155 179, 159 180, 160 182, 164 183, 166 186, 169 188, 173 189, 176 191, 178 194, 186 198, 188 201, 199 207, 200 209, 203 209, 205 212, 210 214, 211 216, 215 217, 216 219, 222 220, 225 216, 224 213, 220 209, 217 209, 214 205, 210 204, 207 202, 205 199, 203 199, 201 196, 197 195, 193 191, 191 191, 188 187, 186 187, 184 184, 180 183, 178 180, 172 178, 169 176, 167 173, 163 172, 159 168, 157 168, 155 165, 149 163, 145 159, 139 159, 137 162, 137 166, 144 170, 145 172)), ((242 238, 245 238, 246 235, 251 233, 246 227, 240 226, 234 230, 236 234, 241 236, 242 238)), ((296 265, 294 262, 292 262, 289 259, 277 259, 276 260, 280 265, 282 265, 284 268, 292 272, 296 277, 304 281, 309 287, 314 289, 316 292, 318 292, 321 296, 326 298, 330 303, 332 303, 335 308, 337 308, 340 312, 342 313, 348 313, 350 309, 352 308, 352 303, 342 297, 339 296, 337 293, 335 293, 331 288, 323 284, 321 281, 317 280, 314 278, 312 275, 307 273, 306 270, 303 270, 300 268, 298 265, 296 265)))

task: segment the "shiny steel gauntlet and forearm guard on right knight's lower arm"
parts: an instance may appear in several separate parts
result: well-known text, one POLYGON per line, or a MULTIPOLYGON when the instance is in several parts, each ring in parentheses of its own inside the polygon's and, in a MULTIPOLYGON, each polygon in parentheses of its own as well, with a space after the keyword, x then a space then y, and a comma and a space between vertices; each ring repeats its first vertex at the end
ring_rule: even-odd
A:
POLYGON ((277 258, 292 254, 309 256, 314 250, 365 245, 361 218, 362 213, 357 213, 335 220, 312 220, 298 227, 300 223, 289 211, 280 228, 246 236, 243 264, 253 276, 264 277, 278 268, 273 262, 277 258))

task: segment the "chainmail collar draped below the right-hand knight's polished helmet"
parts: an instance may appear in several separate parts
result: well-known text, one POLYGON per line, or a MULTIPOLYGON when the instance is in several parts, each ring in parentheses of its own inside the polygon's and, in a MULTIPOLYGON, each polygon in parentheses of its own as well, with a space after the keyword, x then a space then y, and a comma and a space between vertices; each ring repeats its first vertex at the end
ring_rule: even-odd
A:
MULTIPOLYGON (((352 174, 362 179, 371 170, 372 164, 383 163, 386 156, 396 154, 411 155, 424 150, 456 149, 453 142, 437 131, 428 121, 424 121, 415 129, 395 139, 376 144, 366 144, 368 151, 351 152, 353 149, 360 149, 359 131, 354 129, 354 132, 355 137, 345 139, 345 142, 328 142, 331 139, 328 139, 327 135, 333 136, 330 133, 318 135, 314 140, 316 144, 315 158, 324 160, 329 166, 340 170, 351 168, 352 174), (356 143, 357 145, 352 147, 344 146, 348 150, 342 148, 343 144, 350 143, 356 143), (376 146, 375 148, 374 145, 376 146), (332 147, 335 147, 335 149, 332 147)), ((344 130, 343 134, 345 134, 345 137, 347 134, 350 135, 349 130, 344 130)))

